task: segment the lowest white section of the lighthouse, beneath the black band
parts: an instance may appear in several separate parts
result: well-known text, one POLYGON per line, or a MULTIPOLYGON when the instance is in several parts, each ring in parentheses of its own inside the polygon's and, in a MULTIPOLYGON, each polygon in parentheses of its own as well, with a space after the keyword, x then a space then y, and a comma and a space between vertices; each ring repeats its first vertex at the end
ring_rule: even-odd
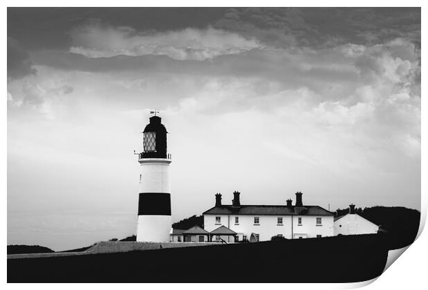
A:
POLYGON ((139 215, 137 242, 169 242, 171 215, 139 215))

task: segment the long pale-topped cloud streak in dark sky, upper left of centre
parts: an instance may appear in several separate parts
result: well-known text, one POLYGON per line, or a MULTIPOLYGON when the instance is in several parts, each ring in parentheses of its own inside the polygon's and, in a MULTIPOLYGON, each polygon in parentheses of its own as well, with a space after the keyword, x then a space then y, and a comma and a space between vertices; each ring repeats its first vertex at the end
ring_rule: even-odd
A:
POLYGON ((204 60, 219 55, 236 55, 261 47, 253 37, 246 39, 236 32, 211 27, 138 32, 130 27, 114 27, 100 21, 90 21, 74 28, 70 35, 70 52, 90 58, 167 55, 179 60, 204 60))

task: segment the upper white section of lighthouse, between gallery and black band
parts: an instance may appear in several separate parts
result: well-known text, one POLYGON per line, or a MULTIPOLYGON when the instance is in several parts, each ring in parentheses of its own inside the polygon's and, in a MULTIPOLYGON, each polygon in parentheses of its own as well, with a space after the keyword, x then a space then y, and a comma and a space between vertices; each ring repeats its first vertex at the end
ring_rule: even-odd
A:
POLYGON ((139 193, 170 193, 169 164, 171 160, 161 158, 140 159, 139 193))

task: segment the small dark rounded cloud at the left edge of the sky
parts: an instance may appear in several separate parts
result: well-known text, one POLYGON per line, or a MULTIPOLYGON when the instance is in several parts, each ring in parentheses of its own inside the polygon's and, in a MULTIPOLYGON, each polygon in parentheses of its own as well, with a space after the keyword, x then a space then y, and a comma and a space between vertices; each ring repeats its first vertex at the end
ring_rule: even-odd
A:
POLYGON ((27 50, 16 39, 8 37, 8 79, 35 75, 37 70, 32 65, 27 50))

